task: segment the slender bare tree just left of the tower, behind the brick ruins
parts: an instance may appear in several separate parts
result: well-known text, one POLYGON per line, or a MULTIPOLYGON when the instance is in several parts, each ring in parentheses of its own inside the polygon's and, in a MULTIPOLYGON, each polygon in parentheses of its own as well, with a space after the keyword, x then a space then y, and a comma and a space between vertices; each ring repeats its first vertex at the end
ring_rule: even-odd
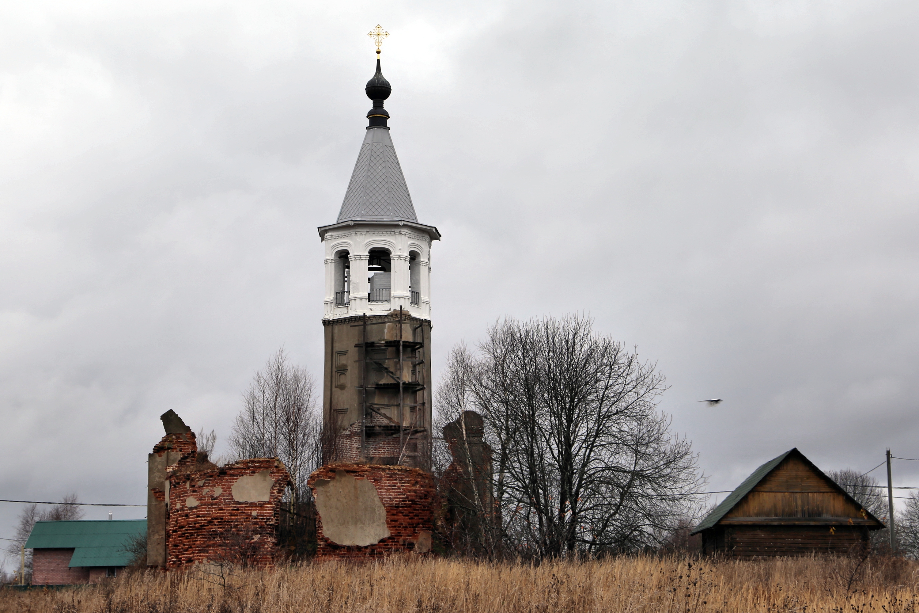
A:
POLYGON ((316 398, 312 375, 290 365, 280 348, 264 369, 255 372, 229 438, 231 454, 238 459, 279 458, 284 462, 294 483, 291 501, 308 496, 306 480, 320 460, 316 398))

